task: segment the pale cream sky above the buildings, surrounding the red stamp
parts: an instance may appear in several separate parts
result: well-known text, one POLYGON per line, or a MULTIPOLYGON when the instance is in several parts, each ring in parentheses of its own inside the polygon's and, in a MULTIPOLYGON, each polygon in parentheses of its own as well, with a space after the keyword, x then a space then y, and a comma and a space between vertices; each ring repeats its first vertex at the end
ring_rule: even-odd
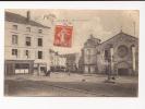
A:
MULTIPOLYGON (((26 16, 28 10, 8 10, 26 16)), ((50 44, 53 44, 53 32, 57 24, 68 20, 73 26, 73 41, 71 48, 53 47, 60 53, 80 52, 90 34, 101 41, 118 34, 121 28, 124 33, 138 37, 140 12, 137 10, 29 10, 31 19, 46 26, 50 26, 50 44), (44 15, 49 19, 44 20, 44 15), (51 22, 52 15, 53 23, 51 22), (135 35, 134 26, 135 22, 135 35)))

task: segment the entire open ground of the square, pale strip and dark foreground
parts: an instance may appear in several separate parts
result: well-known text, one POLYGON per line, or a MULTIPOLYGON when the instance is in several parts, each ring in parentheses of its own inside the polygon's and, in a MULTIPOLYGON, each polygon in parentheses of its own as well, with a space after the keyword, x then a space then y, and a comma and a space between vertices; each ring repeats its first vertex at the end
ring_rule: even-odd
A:
POLYGON ((49 76, 5 76, 5 96, 51 97, 137 97, 137 76, 118 76, 106 83, 107 75, 51 73, 49 76))

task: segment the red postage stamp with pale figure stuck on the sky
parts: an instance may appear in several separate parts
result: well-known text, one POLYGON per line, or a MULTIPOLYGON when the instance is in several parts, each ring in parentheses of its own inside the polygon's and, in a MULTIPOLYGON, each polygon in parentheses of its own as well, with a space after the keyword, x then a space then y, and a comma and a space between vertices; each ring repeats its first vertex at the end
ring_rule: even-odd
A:
POLYGON ((57 25, 55 31, 55 46, 71 47, 72 46, 73 26, 57 25))

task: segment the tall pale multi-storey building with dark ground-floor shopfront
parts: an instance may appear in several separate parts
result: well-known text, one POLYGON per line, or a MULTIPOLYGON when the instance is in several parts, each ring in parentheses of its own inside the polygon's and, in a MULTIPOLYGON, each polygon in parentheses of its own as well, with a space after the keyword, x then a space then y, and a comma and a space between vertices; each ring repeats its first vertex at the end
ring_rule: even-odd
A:
POLYGON ((50 27, 26 16, 5 12, 4 72, 11 74, 41 75, 49 69, 50 27))

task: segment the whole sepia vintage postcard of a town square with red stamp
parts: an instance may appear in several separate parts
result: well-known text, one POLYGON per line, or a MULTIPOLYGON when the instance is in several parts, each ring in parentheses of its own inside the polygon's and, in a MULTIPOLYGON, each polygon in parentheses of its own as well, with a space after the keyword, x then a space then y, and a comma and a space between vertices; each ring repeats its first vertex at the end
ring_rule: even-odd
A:
POLYGON ((138 10, 4 15, 4 96, 138 96, 138 10))

